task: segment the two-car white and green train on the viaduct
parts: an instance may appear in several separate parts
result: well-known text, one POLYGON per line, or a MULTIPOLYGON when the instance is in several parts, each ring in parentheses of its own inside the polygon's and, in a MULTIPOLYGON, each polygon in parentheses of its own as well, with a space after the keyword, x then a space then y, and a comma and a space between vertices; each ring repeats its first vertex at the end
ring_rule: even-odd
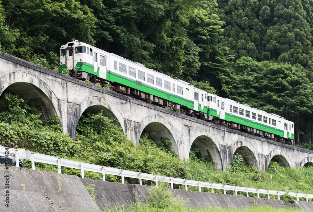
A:
POLYGON ((60 71, 182 114, 293 144, 294 123, 279 115, 209 94, 181 79, 74 38, 60 48, 60 71))

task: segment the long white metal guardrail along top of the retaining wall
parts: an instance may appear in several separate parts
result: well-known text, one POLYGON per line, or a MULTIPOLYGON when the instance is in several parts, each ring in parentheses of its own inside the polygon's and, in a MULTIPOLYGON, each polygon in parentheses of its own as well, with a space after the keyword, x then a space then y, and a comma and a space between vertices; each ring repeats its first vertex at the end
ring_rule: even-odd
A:
MULTIPOLYGON (((222 185, 222 184, 217 184, 217 183, 184 180, 184 179, 175 178, 175 177, 158 176, 158 175, 146 174, 146 173, 141 173, 141 172, 136 172, 136 171, 127 171, 127 170, 122 170, 122 169, 106 167, 106 166, 94 165, 90 163, 72 161, 72 160, 63 159, 59 157, 34 153, 28 150, 25 151, 25 149, 13 149, 13 148, 6 148, 6 147, 0 146, 0 155, 3 155, 3 156, 9 155, 10 157, 15 157, 16 161, 22 158, 28 161, 31 161, 32 169, 35 169, 35 162, 57 165, 59 173, 61 173, 61 166, 74 168, 74 169, 80 169, 82 178, 84 178, 84 171, 94 171, 94 172, 102 173, 103 181, 105 181, 105 174, 121 176, 121 181, 123 184, 124 184, 124 177, 132 177, 132 178, 139 179, 140 185, 142 184, 142 180, 155 181, 156 186, 157 186, 158 179, 160 179, 162 181, 164 180, 164 182, 170 183, 172 188, 173 188, 174 183, 185 185, 186 190, 188 190, 187 185, 192 185, 192 186, 198 186, 199 191, 201 191, 201 187, 211 188, 212 193, 214 193, 214 189, 222 189, 224 190, 224 194, 226 194, 226 190, 235 191, 235 195, 237 195, 238 191, 243 191, 247 193, 247 197, 249 197, 249 193, 257 193, 258 198, 259 198, 259 194, 267 194, 268 199, 269 199, 269 195, 278 195, 278 199, 280 200, 280 195, 287 194, 290 196, 297 197, 298 201, 299 201, 299 197, 306 198, 306 201, 308 201, 308 198, 313 199, 312 194, 300 194, 300 193, 285 192, 285 191, 245 188, 245 187, 239 187, 239 186, 233 186, 233 185, 222 185), (9 149, 9 151, 7 151, 6 149, 9 149)), ((19 163, 16 163, 16 166, 18 167, 19 163)))

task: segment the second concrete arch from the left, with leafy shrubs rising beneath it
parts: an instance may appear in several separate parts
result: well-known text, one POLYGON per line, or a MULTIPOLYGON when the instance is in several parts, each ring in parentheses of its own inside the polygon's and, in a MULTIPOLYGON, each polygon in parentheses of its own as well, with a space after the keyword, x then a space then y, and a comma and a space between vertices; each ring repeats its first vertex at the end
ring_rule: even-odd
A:
POLYGON ((124 124, 124 118, 122 114, 119 112, 116 106, 107 99, 99 96, 91 96, 82 100, 79 105, 75 105, 75 107, 70 108, 70 110, 72 110, 70 111, 72 113, 69 114, 72 114, 72 117, 69 118, 71 120, 69 132, 73 138, 76 137, 76 126, 81 115, 88 110, 94 113, 103 110, 103 114, 105 116, 115 119, 116 123, 119 124, 123 129, 123 132, 125 134, 127 133, 127 126, 124 124))

